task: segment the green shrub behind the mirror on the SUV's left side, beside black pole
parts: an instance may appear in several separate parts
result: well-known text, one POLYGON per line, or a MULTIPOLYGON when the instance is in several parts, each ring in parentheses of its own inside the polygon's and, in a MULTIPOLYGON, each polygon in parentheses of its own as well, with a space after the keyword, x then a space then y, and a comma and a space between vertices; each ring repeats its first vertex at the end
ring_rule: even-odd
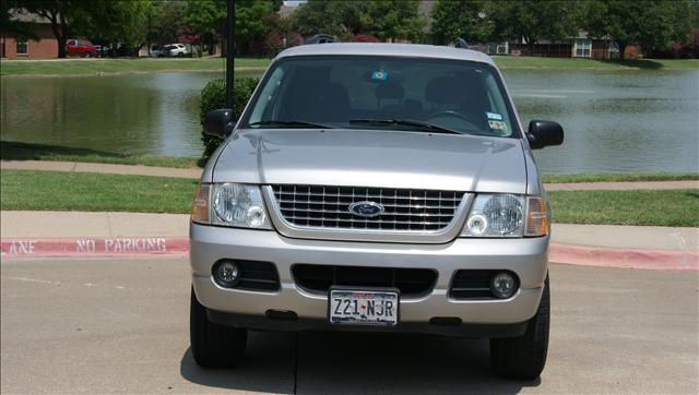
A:
MULTIPOLYGON (((254 87, 260 79, 236 79, 233 83, 233 115, 236 119, 240 118, 245 106, 248 104, 254 87)), ((201 91, 201 112, 200 121, 204 123, 204 117, 211 110, 226 107, 226 83, 224 80, 210 81, 201 91)), ((204 143, 204 153, 202 157, 208 159, 211 154, 223 142, 221 139, 204 134, 202 129, 202 142, 204 143)))

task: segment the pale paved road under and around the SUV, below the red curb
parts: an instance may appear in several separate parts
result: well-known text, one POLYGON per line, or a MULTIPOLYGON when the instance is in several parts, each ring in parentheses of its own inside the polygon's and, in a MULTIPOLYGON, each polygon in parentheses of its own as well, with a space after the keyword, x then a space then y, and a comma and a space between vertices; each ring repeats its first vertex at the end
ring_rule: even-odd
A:
POLYGON ((697 272, 553 264, 548 362, 517 382, 485 340, 414 335, 252 333, 244 367, 202 370, 186 260, 0 267, 3 394, 699 392, 697 272))

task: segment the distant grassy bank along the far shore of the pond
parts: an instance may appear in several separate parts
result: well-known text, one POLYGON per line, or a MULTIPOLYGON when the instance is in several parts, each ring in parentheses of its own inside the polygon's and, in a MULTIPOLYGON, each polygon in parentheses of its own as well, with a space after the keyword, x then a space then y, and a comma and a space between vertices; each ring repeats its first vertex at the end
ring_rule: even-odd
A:
MULTIPOLYGON (((699 69, 697 59, 593 60, 569 58, 494 57, 502 69, 699 69)), ((238 58, 238 69, 264 69, 266 58, 238 58)), ((94 75, 97 73, 147 73, 162 71, 223 71, 225 59, 60 59, 2 60, 2 75, 94 75)))

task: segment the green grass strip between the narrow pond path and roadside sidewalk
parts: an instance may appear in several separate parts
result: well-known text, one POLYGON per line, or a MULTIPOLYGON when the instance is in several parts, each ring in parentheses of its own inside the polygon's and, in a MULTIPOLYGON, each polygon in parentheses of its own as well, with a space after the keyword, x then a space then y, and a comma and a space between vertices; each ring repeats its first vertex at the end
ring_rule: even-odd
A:
MULTIPOLYGON (((2 210, 188 213, 194 180, 2 170, 2 210)), ((699 226, 699 190, 550 192, 553 219, 567 224, 699 226), (691 214, 695 213, 695 214, 691 214)))

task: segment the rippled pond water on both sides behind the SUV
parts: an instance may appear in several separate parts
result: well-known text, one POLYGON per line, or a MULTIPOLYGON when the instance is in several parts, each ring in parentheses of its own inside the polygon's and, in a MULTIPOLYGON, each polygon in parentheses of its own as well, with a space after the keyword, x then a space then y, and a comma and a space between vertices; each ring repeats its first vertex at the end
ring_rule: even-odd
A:
MULTIPOLYGON (((0 137, 199 156, 199 95, 222 76, 2 77, 0 137)), ((699 70, 506 70, 505 76, 525 125, 534 118, 564 125, 564 145, 535 154, 544 172, 699 171, 699 70)))

